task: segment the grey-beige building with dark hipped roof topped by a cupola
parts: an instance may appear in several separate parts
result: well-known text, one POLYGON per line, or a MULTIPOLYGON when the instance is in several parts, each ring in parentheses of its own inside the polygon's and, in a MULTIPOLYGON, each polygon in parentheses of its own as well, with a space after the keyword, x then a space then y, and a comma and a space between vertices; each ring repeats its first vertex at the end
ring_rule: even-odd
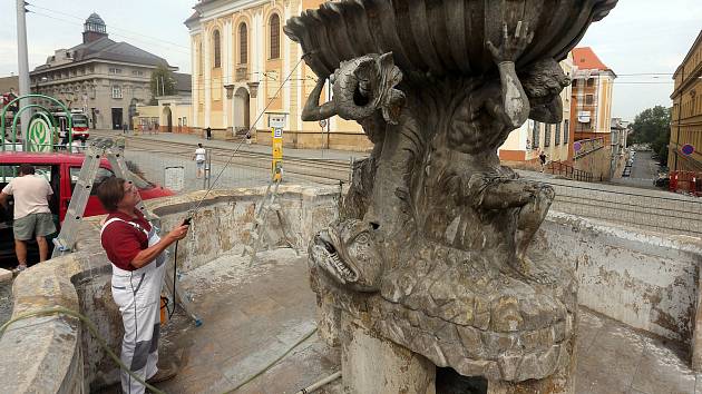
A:
POLYGON ((45 65, 30 72, 31 90, 81 109, 92 128, 119 129, 133 118, 138 102, 152 98, 152 71, 159 65, 174 71, 177 68, 129 43, 109 39, 105 21, 97 13, 84 27, 82 43, 57 49, 45 65))

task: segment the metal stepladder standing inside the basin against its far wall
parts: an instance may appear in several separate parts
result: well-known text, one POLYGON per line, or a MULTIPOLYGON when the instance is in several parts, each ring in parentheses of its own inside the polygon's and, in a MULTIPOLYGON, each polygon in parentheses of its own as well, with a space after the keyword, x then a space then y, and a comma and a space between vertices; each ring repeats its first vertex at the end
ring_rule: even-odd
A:
MULTIPOLYGON (((276 169, 276 171, 282 173, 282 169, 279 168, 276 169)), ((275 216, 277 217, 277 221, 281 225, 281 232, 283 233, 283 238, 285 239, 285 243, 287 244, 290 248, 292 248, 295 252, 295 255, 300 256, 300 252, 295 247, 295 244, 290 239, 290 236, 287 234, 289 226, 283 214, 281 213, 281 205, 276 203, 276 199, 279 197, 277 189, 281 186, 281 181, 282 181, 281 176, 274 175, 272 177, 271 181, 269 183, 269 186, 265 188, 265 195, 261 199, 261 204, 259 205, 259 208, 256 209, 253 227, 251 229, 252 245, 245 245, 244 252, 242 253, 242 257, 246 256, 246 254, 251 255, 251 262, 248 263, 250 265, 255 263, 256 254, 259 253, 259 249, 261 248, 261 245, 263 244, 263 238, 265 237, 265 234, 266 234, 265 232, 266 217, 269 216, 269 213, 271 213, 271 210, 275 211, 275 216)), ((271 245, 269 245, 269 249, 270 248, 271 248, 271 245)))

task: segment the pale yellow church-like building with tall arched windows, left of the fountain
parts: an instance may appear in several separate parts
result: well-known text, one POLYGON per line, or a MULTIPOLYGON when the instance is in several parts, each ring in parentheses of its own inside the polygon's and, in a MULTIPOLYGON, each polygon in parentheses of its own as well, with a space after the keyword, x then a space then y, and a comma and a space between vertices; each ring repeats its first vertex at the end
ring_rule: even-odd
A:
MULTIPOLYGON (((355 121, 333 117, 304 122, 301 111, 316 76, 300 61, 300 46, 283 33, 285 21, 320 0, 201 0, 185 21, 193 62, 193 132, 207 127, 214 138, 237 138, 256 130, 269 144, 269 114, 284 114, 284 142, 298 148, 368 150, 355 121)), ((326 97, 329 89, 322 93, 326 97)))

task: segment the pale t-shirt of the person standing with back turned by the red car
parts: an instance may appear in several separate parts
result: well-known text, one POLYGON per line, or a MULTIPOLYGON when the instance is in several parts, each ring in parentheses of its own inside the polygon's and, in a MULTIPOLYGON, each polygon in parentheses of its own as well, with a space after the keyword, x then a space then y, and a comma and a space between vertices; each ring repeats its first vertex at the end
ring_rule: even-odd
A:
POLYGON ((14 196, 14 219, 29 214, 50 214, 49 197, 53 194, 49 183, 33 175, 17 177, 2 189, 6 195, 14 196))

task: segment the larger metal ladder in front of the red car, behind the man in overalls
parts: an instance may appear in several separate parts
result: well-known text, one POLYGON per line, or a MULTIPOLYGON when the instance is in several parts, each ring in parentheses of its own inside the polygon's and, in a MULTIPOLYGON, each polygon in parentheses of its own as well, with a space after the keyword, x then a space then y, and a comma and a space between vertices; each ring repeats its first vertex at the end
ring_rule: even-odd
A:
MULTIPOLYGON (((114 140, 107 138, 97 138, 88 146, 82 167, 80 167, 80 173, 78 173, 78 180, 76 181, 74 194, 68 204, 64 224, 61 224, 61 230, 59 235, 53 238, 55 247, 51 258, 64 256, 74 250, 78 235, 78 226, 80 221, 82 221, 82 215, 86 210, 88 198, 90 198, 90 191, 92 190, 103 157, 107 157, 116 177, 131 183, 124 159, 124 140, 121 144, 116 144, 114 140)), ((139 201, 137 208, 143 214, 146 214, 144 203, 139 201)))

